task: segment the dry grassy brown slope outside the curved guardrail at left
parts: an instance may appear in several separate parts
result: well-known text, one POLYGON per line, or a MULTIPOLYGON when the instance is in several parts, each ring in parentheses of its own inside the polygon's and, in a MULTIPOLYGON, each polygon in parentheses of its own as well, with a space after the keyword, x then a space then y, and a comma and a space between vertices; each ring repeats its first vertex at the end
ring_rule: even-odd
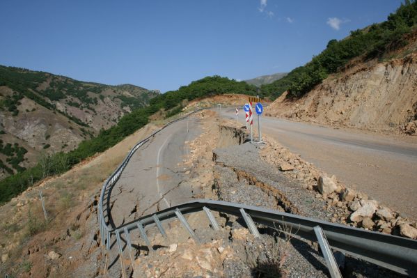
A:
MULTIPOLYGON (((104 180, 122 162, 127 151, 153 130, 155 126, 148 125, 105 153, 81 162, 61 176, 48 178, 1 206, 0 218, 5 220, 0 224, 0 254, 8 254, 9 258, 0 265, 0 272, 15 273, 19 277, 32 268, 27 263, 27 249, 33 245, 45 245, 45 241, 52 239, 48 237, 55 238, 57 233, 70 229, 78 213, 85 209, 80 204, 87 203, 100 191, 104 180), (44 196, 49 222, 45 222, 39 190, 44 196)), ((71 227, 72 238, 80 240, 84 237, 85 233, 79 226, 71 227)))

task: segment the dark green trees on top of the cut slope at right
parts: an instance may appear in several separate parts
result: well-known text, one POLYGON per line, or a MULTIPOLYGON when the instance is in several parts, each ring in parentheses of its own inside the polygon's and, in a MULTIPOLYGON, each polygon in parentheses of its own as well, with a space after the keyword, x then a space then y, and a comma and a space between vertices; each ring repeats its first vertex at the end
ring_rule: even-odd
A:
POLYGON ((417 2, 407 0, 385 22, 351 31, 343 40, 330 40, 326 49, 306 65, 272 84, 261 86, 260 96, 276 99, 288 91, 288 97, 298 98, 357 56, 383 59, 389 52, 407 44, 404 34, 416 29, 416 24, 417 2))

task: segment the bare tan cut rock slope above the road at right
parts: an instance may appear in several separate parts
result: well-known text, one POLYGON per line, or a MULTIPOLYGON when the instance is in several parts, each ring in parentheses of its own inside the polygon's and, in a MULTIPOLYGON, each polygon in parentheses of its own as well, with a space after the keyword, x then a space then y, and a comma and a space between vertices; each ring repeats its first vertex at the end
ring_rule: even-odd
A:
POLYGON ((351 61, 298 99, 283 93, 266 109, 269 116, 368 130, 416 134, 417 43, 395 59, 351 61))

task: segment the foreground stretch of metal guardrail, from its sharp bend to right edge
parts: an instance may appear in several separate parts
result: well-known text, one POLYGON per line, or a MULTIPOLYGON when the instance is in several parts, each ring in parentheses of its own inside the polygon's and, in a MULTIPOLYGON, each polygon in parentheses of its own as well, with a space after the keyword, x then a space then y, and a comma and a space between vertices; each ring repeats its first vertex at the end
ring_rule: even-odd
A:
MULTIPOLYGON (((115 233, 120 234, 125 233, 125 238, 127 238, 127 242, 129 242, 129 232, 137 229, 138 226, 141 226, 142 229, 144 229, 146 226, 157 225, 159 231, 165 237, 166 233, 160 226, 160 222, 180 219, 190 235, 198 242, 198 235, 196 235, 192 228, 189 227, 189 224, 187 224, 187 220, 185 220, 183 215, 205 211, 212 224, 212 228, 216 229, 216 226, 218 227, 218 225, 217 223, 213 224, 215 219, 212 217, 210 210, 235 215, 237 217, 249 215, 249 222, 246 222, 245 220, 248 226, 252 226, 251 224, 253 224, 253 222, 269 226, 272 229, 277 229, 277 226, 281 226, 285 227, 285 229, 283 229, 284 233, 291 233, 296 237, 314 242, 317 242, 317 236, 314 229, 315 227, 320 226, 332 249, 336 249, 356 258, 361 258, 364 261, 375 263, 376 265, 380 265, 381 267, 388 268, 403 275, 409 275, 411 277, 417 276, 417 240, 385 233, 366 231, 364 229, 357 229, 342 224, 334 224, 309 217, 292 215, 290 213, 282 213, 278 210, 269 210, 266 208, 246 206, 226 201, 196 200, 182 203, 181 205, 161 210, 154 215, 147 215, 136 219, 133 222, 118 227, 114 231, 115 233), (155 219, 157 219, 157 222, 155 222, 155 219)), ((257 229, 255 228, 255 232, 252 231, 252 229, 250 229, 251 233, 256 236, 256 233, 258 233, 257 229)), ((143 239, 145 241, 148 241, 146 235, 142 235, 142 237, 144 237, 143 239)), ((152 247, 149 248, 152 249, 152 247)), ((120 256, 122 256, 122 254, 120 254, 120 256)))

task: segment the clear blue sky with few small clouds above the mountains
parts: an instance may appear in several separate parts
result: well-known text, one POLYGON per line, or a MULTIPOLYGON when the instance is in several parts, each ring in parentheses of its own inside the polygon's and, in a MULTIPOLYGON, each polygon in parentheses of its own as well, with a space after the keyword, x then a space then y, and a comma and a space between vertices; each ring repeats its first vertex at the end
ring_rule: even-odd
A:
POLYGON ((0 64, 162 92, 288 72, 400 0, 1 0, 0 64))

